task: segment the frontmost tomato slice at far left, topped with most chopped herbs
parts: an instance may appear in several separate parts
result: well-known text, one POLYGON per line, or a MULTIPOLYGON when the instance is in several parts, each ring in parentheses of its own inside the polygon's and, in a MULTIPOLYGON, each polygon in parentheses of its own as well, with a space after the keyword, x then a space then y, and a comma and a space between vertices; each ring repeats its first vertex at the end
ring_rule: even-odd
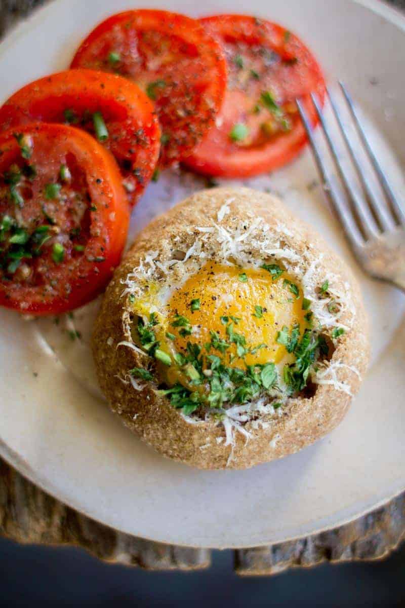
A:
POLYGON ((36 123, 0 135, 0 305, 57 314, 89 302, 120 261, 129 204, 111 153, 36 123))

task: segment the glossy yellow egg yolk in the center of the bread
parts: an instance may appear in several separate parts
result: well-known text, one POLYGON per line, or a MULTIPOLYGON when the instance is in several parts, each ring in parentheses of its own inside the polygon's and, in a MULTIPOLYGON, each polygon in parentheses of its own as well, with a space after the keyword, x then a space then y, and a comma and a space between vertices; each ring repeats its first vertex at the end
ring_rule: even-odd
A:
MULTIPOLYGON (((169 331, 176 336, 175 348, 186 350, 187 342, 197 343, 203 348, 211 342, 211 332, 217 332, 222 340, 229 342, 226 325, 233 322, 232 316, 239 319, 237 323, 233 322, 233 331, 245 337, 245 348, 266 345, 256 353, 245 356, 248 365, 281 361, 287 350, 285 346, 277 344, 278 332, 283 326, 291 331, 291 327, 298 323, 302 335, 307 326, 304 319, 306 313, 302 310, 302 289, 297 285, 297 297, 291 292, 288 282, 296 285, 293 277, 286 272, 273 280, 265 269, 240 269, 237 266, 207 263, 198 274, 176 289, 168 302, 169 323, 177 314, 186 317, 193 328, 191 335, 181 336, 181 327, 170 327, 169 331), (199 300, 198 310, 192 310, 192 300, 199 300), (221 317, 228 317, 228 323, 222 322, 221 317)), ((239 358, 233 357, 236 348, 236 344, 231 344, 225 355, 227 364, 234 367, 241 363, 239 358)), ((214 348, 210 352, 222 357, 214 348)))

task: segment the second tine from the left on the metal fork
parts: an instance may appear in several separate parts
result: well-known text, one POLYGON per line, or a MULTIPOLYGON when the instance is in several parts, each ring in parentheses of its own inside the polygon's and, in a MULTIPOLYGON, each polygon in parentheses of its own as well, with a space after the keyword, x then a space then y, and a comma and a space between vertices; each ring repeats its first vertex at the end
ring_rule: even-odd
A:
POLYGON ((330 153, 333 156, 336 167, 338 168, 339 175, 341 176, 342 182, 345 185, 345 189, 346 189, 347 195, 349 196, 350 202, 351 202, 352 206, 354 207, 354 212, 358 218, 359 224, 361 226, 361 230, 362 230, 362 232, 364 232, 364 235, 366 238, 377 237, 378 229, 375 225, 375 221, 374 221, 368 207, 364 204, 364 201, 362 200, 361 196, 358 195, 358 193, 355 191, 355 189, 350 184, 347 173, 344 170, 344 167, 339 159, 338 150, 335 146, 335 143, 333 142, 332 135, 330 134, 329 126, 325 120, 324 112, 322 112, 321 106, 319 105, 318 98, 314 94, 311 94, 311 98, 313 101, 313 105, 315 106, 316 112, 319 116, 319 120, 321 121, 321 125, 324 130, 328 148, 330 150, 330 153))

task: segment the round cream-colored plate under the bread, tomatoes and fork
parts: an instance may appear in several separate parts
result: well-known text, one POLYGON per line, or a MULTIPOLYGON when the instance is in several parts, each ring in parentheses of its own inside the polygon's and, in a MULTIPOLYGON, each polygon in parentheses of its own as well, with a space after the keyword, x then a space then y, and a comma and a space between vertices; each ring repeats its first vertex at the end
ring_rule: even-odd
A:
MULTIPOLYGON (((2 97, 66 67, 98 21, 135 4, 58 0, 47 5, 0 46, 2 97)), ((188 0, 147 4, 197 16, 188 0)), ((403 195, 405 18, 400 13, 374 0, 251 0, 248 8, 242 0, 206 0, 203 10, 206 15, 249 10, 301 35, 330 83, 337 77, 348 83, 403 195)), ((97 303, 59 325, 26 322, 2 310, 1 455, 53 496, 114 528, 205 547, 262 545, 315 533, 405 488, 405 299, 356 268, 316 179, 306 151, 285 170, 248 183, 284 195, 291 209, 315 224, 349 261, 361 282, 373 364, 338 429, 299 454, 250 471, 189 469, 140 443, 98 396, 87 347, 97 303), (72 341, 69 332, 77 329, 83 338, 72 341)), ((191 175, 165 173, 138 204, 132 233, 203 185, 191 175)))

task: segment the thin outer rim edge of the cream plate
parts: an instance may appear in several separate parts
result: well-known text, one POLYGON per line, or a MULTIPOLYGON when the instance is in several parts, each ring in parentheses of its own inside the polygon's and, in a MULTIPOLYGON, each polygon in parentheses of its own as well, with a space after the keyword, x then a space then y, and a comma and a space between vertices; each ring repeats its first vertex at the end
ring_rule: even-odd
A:
MULTIPOLYGON (((18 19, 16 21, 16 23, 13 24, 9 30, 7 30, 7 33, 5 33, 4 38, 0 42, 0 57, 1 57, 2 52, 7 50, 7 48, 9 46, 12 46, 16 42, 16 40, 18 39, 19 36, 24 35, 24 32, 27 29, 30 29, 30 27, 35 26, 36 21, 40 20, 42 18, 42 16, 44 15, 44 13, 55 10, 58 4, 60 4, 62 2, 66 2, 66 1, 67 0, 46 0, 46 2, 43 5, 36 7, 28 16, 18 19)), ((400 29, 403 30, 403 32, 405 34, 405 12, 401 11, 400 9, 398 9, 396 7, 393 7, 392 5, 387 4, 386 0, 350 0, 350 2, 352 2, 353 4, 361 5, 361 6, 365 7, 366 9, 370 10, 371 12, 386 19, 391 24, 400 27, 400 29)), ((21 456, 19 456, 15 451, 13 451, 13 449, 10 448, 3 440, 1 440, 1 438, 0 438, 0 456, 2 458, 4 458, 4 460, 10 467, 15 469, 24 478, 29 480, 29 482, 33 483, 33 485, 38 487, 41 491, 48 494, 53 499, 58 500, 59 502, 63 503, 65 506, 68 506, 68 507, 72 508, 73 510, 77 511, 78 513, 80 513, 81 515, 86 516, 89 519, 100 523, 101 525, 105 526, 106 528, 111 528, 112 530, 114 530, 117 533, 128 534, 128 536, 135 536, 134 534, 128 533, 127 531, 121 530, 119 527, 113 527, 111 524, 106 523, 101 519, 98 519, 98 517, 95 516, 94 514, 90 513, 89 510, 86 510, 86 508, 84 508, 83 506, 78 505, 77 501, 74 498, 64 496, 64 492, 62 489, 55 488, 53 486, 53 483, 50 482, 50 480, 43 480, 41 478, 41 475, 38 474, 38 472, 36 472, 34 469, 32 469, 32 467, 29 465, 29 463, 27 463, 23 458, 21 458, 21 456)), ((336 523, 334 523, 333 525, 328 524, 328 525, 324 525, 323 527, 322 527, 322 525, 317 527, 316 523, 313 522, 312 525, 308 526, 308 529, 310 529, 311 531, 308 531, 307 533, 305 533, 304 536, 299 535, 299 534, 290 534, 285 537, 282 537, 281 540, 274 541, 274 543, 279 544, 281 542, 295 541, 297 539, 301 539, 304 537, 321 534, 321 533, 324 533, 324 532, 330 531, 330 530, 335 530, 336 528, 339 528, 343 525, 353 522, 356 519, 359 519, 359 518, 365 516, 366 514, 371 513, 372 511, 375 511, 378 508, 381 508, 381 506, 387 505, 388 503, 392 502, 392 500, 394 500, 396 497, 400 496, 400 494, 404 491, 405 491, 405 480, 400 484, 400 489, 398 489, 398 485, 395 485, 395 489, 392 489, 392 491, 390 491, 388 496, 386 495, 384 497, 381 497, 376 502, 373 502, 372 505, 364 506, 364 508, 362 508, 361 510, 358 510, 356 508, 352 508, 351 510, 350 510, 350 508, 345 509, 345 511, 347 512, 347 515, 345 516, 344 514, 342 514, 341 519, 336 520, 336 523)), ((161 541, 161 540, 150 538, 148 536, 138 536, 137 535, 136 537, 140 537, 149 542, 158 542, 159 544, 163 544, 163 545, 175 544, 179 547, 189 547, 189 548, 219 548, 219 549, 232 548, 232 549, 236 549, 236 548, 265 547, 265 546, 269 545, 268 542, 261 542, 261 543, 255 542, 254 545, 251 545, 251 544, 246 544, 246 545, 245 544, 243 544, 243 545, 228 544, 226 546, 203 545, 203 544, 190 545, 190 544, 183 544, 182 542, 172 543, 169 541, 161 541)))

